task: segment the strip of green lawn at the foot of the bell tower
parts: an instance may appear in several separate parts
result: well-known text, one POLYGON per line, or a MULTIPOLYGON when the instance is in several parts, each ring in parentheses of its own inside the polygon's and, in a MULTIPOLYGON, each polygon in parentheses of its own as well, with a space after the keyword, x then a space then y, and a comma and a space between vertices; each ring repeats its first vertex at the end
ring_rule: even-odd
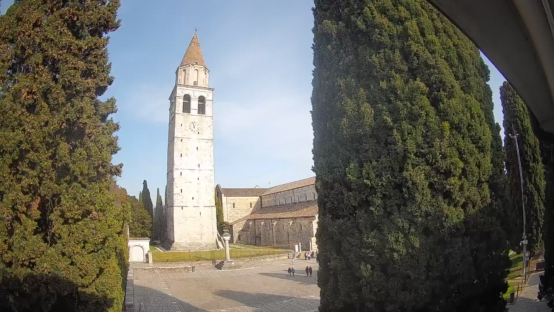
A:
MULTIPOLYGON (((206 261, 225 259, 225 250, 204 250, 192 253, 164 253, 150 246, 154 262, 179 262, 179 261, 206 261)), ((231 259, 247 258, 250 256, 276 255, 285 253, 284 250, 264 248, 260 246, 229 244, 231 259)))

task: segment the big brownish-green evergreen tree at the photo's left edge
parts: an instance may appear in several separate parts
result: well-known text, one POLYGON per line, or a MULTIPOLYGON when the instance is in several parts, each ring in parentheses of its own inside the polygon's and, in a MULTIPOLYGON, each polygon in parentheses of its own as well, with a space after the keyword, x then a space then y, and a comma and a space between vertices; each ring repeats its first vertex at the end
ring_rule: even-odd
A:
POLYGON ((119 0, 0 16, 0 310, 121 311, 125 209, 106 34, 119 0))

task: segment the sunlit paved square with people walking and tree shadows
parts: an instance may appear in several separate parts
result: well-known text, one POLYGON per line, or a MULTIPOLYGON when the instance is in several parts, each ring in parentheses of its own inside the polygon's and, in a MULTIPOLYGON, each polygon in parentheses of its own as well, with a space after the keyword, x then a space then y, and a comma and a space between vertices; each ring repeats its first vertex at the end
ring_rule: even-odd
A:
POLYGON ((256 263, 252 268, 220 271, 197 267, 194 273, 134 273, 135 309, 142 302, 151 312, 308 312, 317 311, 319 288, 314 261, 256 263), (314 276, 306 276, 311 266, 314 276), (303 273, 303 274, 302 274, 303 273))

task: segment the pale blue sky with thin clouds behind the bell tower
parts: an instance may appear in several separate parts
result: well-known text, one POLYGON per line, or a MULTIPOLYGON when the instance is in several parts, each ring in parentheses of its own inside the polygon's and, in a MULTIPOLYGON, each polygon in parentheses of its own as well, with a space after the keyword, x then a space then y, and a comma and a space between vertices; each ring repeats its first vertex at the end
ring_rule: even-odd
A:
MULTIPOLYGON (((13 1, 2 1, 1 11, 13 1)), ((216 183, 274 186, 312 177, 311 91, 313 2, 123 0, 121 27, 110 34, 124 163, 121 187, 132 195, 142 180, 155 201, 166 185, 168 97, 194 28, 214 90, 216 183), (194 3, 191 6, 191 3, 194 3)), ((496 121, 499 87, 491 70, 496 121)), ((504 130, 502 130, 502 135, 504 130)))

